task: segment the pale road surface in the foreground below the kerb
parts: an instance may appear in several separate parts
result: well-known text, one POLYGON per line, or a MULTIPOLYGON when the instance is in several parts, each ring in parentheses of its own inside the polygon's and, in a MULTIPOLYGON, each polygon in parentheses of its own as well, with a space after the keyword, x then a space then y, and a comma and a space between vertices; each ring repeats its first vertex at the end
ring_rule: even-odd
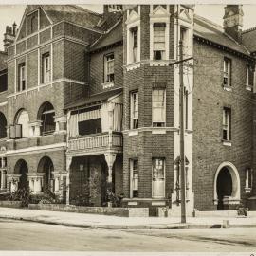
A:
MULTIPOLYGON (((115 230, 0 219, 0 250, 256 252, 256 228, 115 230)), ((256 255, 256 254, 254 254, 256 255)))

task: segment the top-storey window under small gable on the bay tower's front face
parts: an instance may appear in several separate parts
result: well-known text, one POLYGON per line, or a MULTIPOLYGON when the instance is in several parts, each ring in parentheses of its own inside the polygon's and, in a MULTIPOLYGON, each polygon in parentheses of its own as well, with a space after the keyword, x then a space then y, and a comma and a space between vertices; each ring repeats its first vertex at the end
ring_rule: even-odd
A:
POLYGON ((165 29, 166 29, 165 23, 154 24, 153 52, 154 52, 155 61, 166 59, 165 29))

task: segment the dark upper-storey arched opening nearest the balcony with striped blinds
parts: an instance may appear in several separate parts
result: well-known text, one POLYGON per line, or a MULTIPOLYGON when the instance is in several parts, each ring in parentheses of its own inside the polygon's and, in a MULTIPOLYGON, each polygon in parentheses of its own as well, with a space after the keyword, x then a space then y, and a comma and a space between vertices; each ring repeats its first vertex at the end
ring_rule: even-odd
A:
POLYGON ((48 135, 55 131, 54 122, 55 111, 49 102, 44 103, 39 109, 39 119, 42 121, 41 134, 48 135))

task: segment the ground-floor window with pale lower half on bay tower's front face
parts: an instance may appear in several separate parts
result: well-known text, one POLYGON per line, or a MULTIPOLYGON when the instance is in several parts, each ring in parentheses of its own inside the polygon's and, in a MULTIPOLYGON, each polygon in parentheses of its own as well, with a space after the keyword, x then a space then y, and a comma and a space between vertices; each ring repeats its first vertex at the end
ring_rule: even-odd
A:
POLYGON ((162 158, 153 159, 152 197, 164 198, 165 196, 165 163, 162 158))

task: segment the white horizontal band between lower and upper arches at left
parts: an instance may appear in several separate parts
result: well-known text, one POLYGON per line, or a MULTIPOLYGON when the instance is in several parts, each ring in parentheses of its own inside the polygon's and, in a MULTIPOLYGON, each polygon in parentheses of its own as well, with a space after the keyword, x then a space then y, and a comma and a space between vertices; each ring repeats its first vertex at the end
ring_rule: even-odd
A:
POLYGON ((56 143, 56 144, 50 144, 46 146, 36 146, 36 147, 28 147, 25 149, 20 149, 20 150, 9 150, 7 151, 6 155, 26 155, 26 154, 31 154, 32 152, 45 152, 45 151, 56 151, 56 150, 62 150, 66 149, 66 143, 61 142, 61 143, 56 143))

